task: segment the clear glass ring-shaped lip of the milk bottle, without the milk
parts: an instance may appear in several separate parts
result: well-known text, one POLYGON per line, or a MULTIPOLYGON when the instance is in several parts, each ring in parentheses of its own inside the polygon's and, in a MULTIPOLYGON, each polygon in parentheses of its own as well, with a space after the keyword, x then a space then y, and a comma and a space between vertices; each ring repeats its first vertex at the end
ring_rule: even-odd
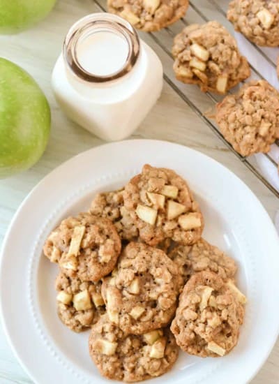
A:
POLYGON ((110 82, 129 73, 135 66, 140 55, 140 38, 133 26, 122 17, 111 13, 93 13, 78 20, 70 28, 63 43, 63 58, 77 77, 86 82, 110 82), (110 31, 125 38, 128 44, 128 56, 118 71, 109 75, 96 75, 86 71, 80 64, 77 54, 77 45, 86 34, 97 31, 110 31))

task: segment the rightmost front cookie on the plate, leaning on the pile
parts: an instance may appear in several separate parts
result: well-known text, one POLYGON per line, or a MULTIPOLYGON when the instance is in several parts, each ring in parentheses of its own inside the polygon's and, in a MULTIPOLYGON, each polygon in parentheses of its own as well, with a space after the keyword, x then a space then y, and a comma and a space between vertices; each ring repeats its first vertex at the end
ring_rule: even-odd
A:
POLYGON ((179 297, 171 331, 190 355, 219 357, 239 339, 246 297, 229 280, 213 272, 193 275, 179 297))

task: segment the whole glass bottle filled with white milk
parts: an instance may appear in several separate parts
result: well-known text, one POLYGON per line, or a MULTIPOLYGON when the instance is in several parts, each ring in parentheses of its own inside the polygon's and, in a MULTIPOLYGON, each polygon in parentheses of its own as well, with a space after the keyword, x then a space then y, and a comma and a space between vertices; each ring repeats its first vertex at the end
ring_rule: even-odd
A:
POLYGON ((70 119, 104 140, 121 140, 160 97, 163 68, 126 20, 94 13, 68 31, 52 87, 70 119))

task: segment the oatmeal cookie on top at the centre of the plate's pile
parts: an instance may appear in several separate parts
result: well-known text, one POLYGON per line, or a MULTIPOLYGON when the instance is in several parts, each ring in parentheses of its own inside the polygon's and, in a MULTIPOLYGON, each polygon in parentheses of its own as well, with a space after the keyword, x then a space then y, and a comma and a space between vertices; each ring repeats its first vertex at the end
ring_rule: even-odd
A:
POLYGON ((179 293, 178 267, 160 249, 131 242, 112 278, 104 279, 107 314, 121 330, 143 334, 172 319, 179 293))

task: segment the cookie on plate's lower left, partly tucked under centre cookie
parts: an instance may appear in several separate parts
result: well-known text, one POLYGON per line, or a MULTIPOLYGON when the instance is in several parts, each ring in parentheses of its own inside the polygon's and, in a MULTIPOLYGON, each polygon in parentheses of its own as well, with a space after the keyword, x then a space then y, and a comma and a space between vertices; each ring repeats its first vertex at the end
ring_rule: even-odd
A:
POLYGON ((60 272, 56 277, 58 291, 57 313, 60 320, 70 330, 81 332, 98 321, 105 311, 105 302, 100 294, 101 282, 91 283, 73 279, 60 272))

